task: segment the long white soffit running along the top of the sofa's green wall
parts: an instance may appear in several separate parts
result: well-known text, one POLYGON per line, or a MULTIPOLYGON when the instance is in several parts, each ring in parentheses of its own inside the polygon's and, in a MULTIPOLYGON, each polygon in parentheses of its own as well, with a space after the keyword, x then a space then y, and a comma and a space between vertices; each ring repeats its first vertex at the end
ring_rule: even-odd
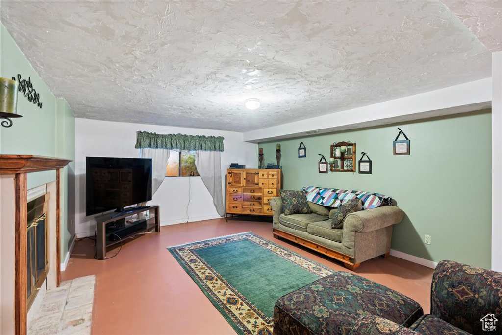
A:
POLYGON ((364 127, 404 123, 490 107, 491 79, 481 79, 367 106, 244 133, 244 140, 266 142, 364 127))

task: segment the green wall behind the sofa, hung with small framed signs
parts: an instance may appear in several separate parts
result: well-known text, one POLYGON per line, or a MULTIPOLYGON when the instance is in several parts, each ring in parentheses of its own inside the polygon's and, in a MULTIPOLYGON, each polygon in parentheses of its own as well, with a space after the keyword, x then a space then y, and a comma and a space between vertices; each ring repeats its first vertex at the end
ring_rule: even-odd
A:
MULTIPOLYGON (((260 143, 264 163, 276 163, 281 144, 284 188, 333 187, 392 196, 406 216, 394 226, 392 249, 434 262, 450 259, 490 268, 491 241, 490 110, 455 117, 260 143), (411 140, 410 156, 394 156, 400 127, 411 140), (307 158, 298 158, 300 142, 307 158), (329 160, 333 142, 356 143, 372 174, 318 173, 323 154, 329 160), (423 243, 431 236, 431 245, 423 243)), ((356 169, 358 171, 358 168, 356 169)))

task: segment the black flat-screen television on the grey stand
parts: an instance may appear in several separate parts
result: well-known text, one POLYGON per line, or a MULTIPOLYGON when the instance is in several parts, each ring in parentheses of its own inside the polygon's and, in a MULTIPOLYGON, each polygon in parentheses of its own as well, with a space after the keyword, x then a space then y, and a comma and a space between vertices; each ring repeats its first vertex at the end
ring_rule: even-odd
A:
POLYGON ((152 160, 87 157, 85 215, 152 200, 152 160))

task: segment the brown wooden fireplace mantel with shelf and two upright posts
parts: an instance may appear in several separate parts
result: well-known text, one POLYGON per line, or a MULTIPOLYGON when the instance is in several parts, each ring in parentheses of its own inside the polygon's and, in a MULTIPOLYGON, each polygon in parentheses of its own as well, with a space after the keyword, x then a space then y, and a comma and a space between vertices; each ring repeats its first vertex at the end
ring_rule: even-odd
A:
MULTIPOLYGON (((27 230, 28 173, 56 170, 56 260, 61 259, 61 169, 71 160, 34 155, 0 155, 0 174, 14 174, 15 185, 15 284, 14 325, 16 335, 27 333, 27 230)), ((56 285, 61 280, 61 269, 56 266, 56 285)))

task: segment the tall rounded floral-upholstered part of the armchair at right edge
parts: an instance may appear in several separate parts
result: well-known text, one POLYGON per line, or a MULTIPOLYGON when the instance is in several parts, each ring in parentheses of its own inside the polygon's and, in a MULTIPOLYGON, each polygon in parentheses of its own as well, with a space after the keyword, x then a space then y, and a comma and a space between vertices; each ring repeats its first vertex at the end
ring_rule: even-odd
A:
POLYGON ((481 330, 480 319, 502 319, 502 273, 441 261, 434 270, 431 314, 470 333, 481 330))

